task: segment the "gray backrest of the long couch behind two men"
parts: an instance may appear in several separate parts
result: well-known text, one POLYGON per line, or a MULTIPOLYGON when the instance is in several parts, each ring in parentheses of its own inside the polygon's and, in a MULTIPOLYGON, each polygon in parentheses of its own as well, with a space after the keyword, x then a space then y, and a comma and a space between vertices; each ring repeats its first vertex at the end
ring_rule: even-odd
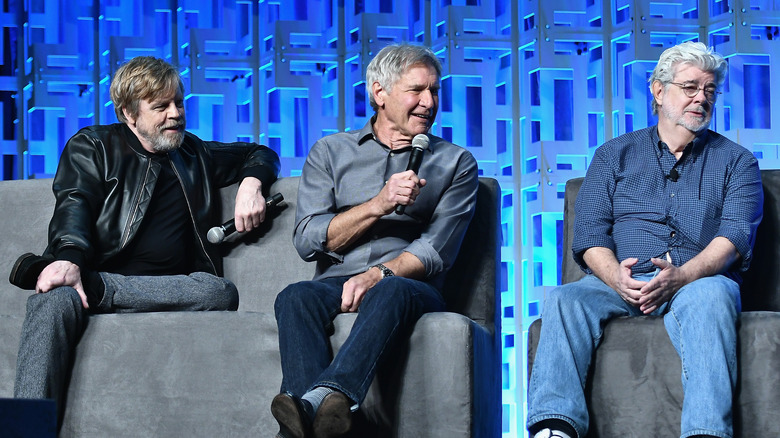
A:
MULTIPOLYGON (((270 193, 281 193, 284 207, 270 214, 260 229, 222 244, 225 277, 238 287, 241 310, 272 312, 276 295, 285 286, 314 275, 314 264, 301 260, 292 245, 298 180, 286 177, 274 183, 270 193)), ((45 179, 0 184, 0 230, 4 236, 0 267, 4 267, 5 275, 16 257, 25 252, 40 254, 46 247, 46 230, 54 209, 51 183, 51 179, 45 179)), ((233 215, 235 194, 236 186, 221 191, 225 220, 233 215)), ((449 310, 497 332, 500 196, 495 179, 480 178, 476 213, 445 284, 449 310)), ((5 312, 23 315, 28 295, 6 283, 0 302, 5 312)))

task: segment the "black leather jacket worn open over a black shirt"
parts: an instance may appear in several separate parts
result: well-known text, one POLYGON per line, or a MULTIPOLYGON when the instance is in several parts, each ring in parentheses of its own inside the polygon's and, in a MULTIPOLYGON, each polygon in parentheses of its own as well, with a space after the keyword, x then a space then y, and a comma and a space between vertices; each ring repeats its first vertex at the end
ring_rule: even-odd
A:
MULTIPOLYGON (((62 151, 52 190, 56 198, 47 254, 100 270, 135 237, 160 164, 124 123, 79 130, 62 151)), ((264 191, 276 180, 279 157, 254 143, 207 142, 187 132, 169 152, 196 229, 195 270, 222 275, 222 258, 205 236, 221 223, 219 189, 254 176, 264 191)))

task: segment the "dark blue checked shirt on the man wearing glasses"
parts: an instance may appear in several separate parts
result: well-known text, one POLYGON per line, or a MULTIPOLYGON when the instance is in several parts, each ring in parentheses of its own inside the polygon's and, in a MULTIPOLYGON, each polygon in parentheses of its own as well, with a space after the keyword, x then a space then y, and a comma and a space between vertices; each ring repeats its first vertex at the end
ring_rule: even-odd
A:
POLYGON ((634 131, 593 156, 575 204, 574 259, 592 273, 582 255, 605 247, 618 261, 638 258, 633 273, 646 273, 655 269, 651 257, 669 253, 681 266, 723 236, 742 256, 725 274, 740 281, 763 202, 758 162, 737 143, 705 130, 677 160, 656 126, 634 131))

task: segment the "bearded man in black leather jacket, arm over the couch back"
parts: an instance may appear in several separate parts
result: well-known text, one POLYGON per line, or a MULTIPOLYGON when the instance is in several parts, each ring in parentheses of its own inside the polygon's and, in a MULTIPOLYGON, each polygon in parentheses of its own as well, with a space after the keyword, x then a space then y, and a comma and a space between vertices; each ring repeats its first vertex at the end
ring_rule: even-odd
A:
POLYGON ((36 292, 14 395, 53 398, 60 415, 91 313, 238 308, 238 291, 220 277, 221 256, 206 239, 221 219, 219 188, 240 182, 236 230, 248 231, 264 220, 264 192, 279 172, 279 157, 265 146, 186 132, 184 86, 161 59, 130 60, 110 91, 121 123, 70 138, 52 185, 48 247, 21 256, 10 276, 36 292))

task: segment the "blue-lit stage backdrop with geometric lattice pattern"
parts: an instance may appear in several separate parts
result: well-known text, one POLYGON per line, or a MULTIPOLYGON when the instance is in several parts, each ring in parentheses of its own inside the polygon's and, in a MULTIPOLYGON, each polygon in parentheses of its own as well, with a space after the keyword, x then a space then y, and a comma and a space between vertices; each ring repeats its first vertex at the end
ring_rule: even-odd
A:
MULTIPOLYGON (((687 40, 724 54, 712 127, 778 167, 772 0, 6 0, 0 23, 2 179, 53 175, 80 127, 113 123, 113 72, 165 58, 188 128, 267 144, 297 175, 312 143, 360 128, 366 64, 412 41, 444 64, 432 132, 502 187, 504 436, 524 434, 525 332, 560 278, 562 197, 595 148, 655 123, 647 78, 687 40), (775 105, 772 105, 774 103, 775 105), (775 111, 773 111, 773 107, 775 111)), ((446 340, 442 340, 446 342, 446 340)))

